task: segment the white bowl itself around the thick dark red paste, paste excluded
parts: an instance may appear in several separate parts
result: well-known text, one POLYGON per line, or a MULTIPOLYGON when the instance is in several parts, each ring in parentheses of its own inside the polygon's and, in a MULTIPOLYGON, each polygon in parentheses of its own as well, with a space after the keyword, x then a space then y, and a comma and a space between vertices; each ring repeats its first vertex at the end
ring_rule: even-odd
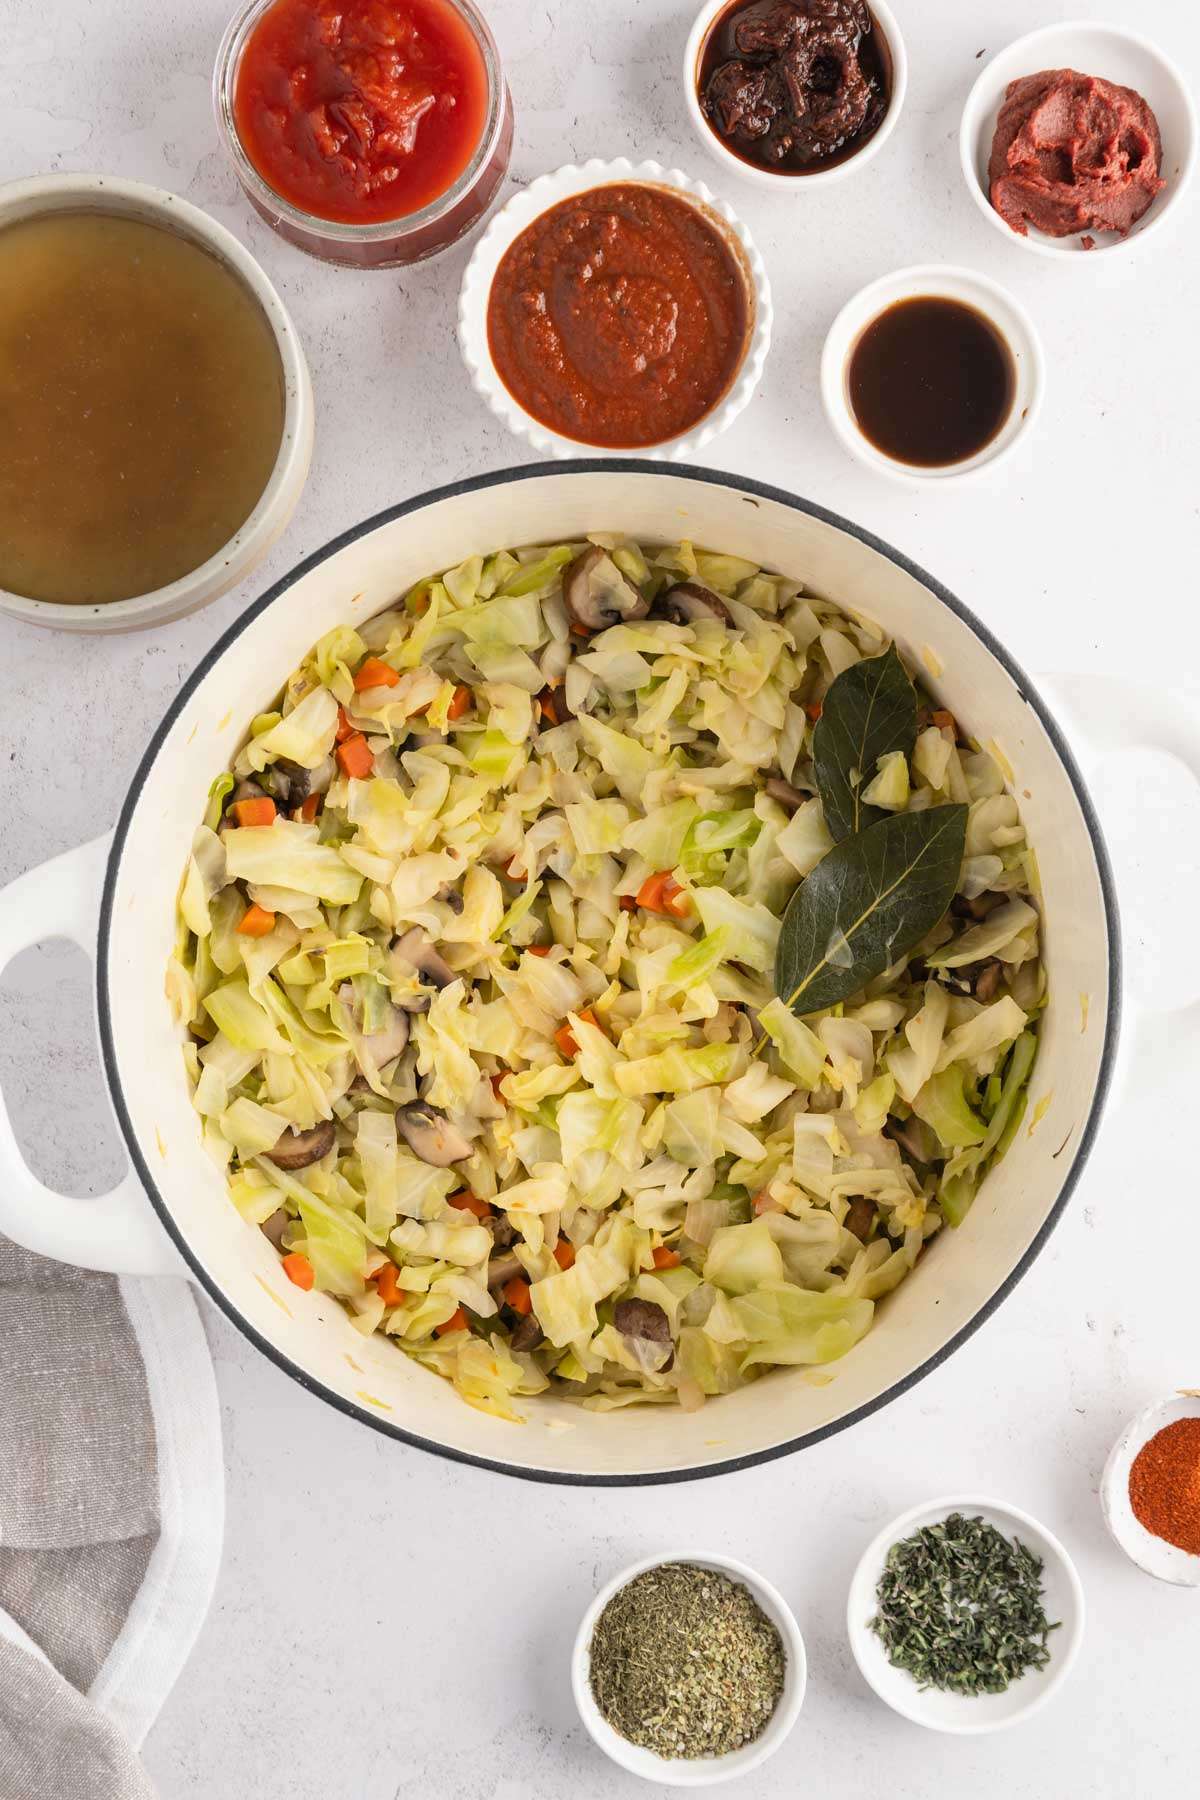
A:
POLYGON ((1004 234, 1009 243, 1034 256, 1094 261, 1097 252, 1114 256, 1119 250, 1133 250, 1162 225, 1168 212, 1173 212, 1191 180, 1196 157, 1196 112, 1191 90, 1175 63, 1132 31, 1119 25, 1076 20, 1069 25, 1043 25, 1027 36, 1009 43, 984 63, 963 108, 959 126, 959 162, 963 180, 979 211, 990 223, 1004 234), (1142 212, 1124 238, 1114 232, 1097 232, 1096 248, 1085 250, 1081 234, 1070 238, 1047 238, 1040 230, 1027 236, 1006 225, 988 198, 988 158, 995 135, 997 117, 1004 103, 1009 81, 1020 76, 1036 76, 1042 68, 1074 68, 1083 76, 1101 76, 1123 88, 1135 88, 1159 121, 1162 133, 1160 175, 1166 187, 1155 202, 1142 212))

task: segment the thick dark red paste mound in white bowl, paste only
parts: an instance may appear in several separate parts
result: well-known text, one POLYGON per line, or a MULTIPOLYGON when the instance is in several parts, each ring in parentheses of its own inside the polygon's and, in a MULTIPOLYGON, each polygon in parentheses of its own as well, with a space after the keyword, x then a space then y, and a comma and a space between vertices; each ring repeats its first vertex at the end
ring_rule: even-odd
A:
MULTIPOLYGON (((1123 238, 1155 194, 1162 137, 1133 88, 1074 68, 1009 81, 991 140, 988 191, 1022 238, 1115 230, 1123 238)), ((1085 250, 1092 248, 1088 238, 1085 250)))

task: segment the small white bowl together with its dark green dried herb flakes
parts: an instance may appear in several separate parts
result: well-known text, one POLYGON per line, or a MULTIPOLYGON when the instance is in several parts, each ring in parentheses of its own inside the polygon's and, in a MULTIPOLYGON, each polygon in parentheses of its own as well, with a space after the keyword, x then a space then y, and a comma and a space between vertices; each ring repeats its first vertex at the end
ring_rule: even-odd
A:
POLYGON ((1067 1679, 1083 1588, 1060 1541, 1016 1507, 952 1496, 892 1519, 847 1602, 858 1669, 880 1699, 936 1732, 999 1732, 1067 1679))

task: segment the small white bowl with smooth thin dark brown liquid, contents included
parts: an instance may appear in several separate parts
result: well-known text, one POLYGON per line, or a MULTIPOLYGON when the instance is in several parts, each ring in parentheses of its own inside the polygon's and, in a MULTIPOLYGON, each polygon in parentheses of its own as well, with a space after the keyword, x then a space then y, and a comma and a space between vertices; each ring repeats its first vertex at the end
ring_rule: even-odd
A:
POLYGON ((820 396, 858 461, 909 482, 991 468, 1034 423, 1036 331, 1004 288, 964 268, 905 268, 842 308, 820 396))

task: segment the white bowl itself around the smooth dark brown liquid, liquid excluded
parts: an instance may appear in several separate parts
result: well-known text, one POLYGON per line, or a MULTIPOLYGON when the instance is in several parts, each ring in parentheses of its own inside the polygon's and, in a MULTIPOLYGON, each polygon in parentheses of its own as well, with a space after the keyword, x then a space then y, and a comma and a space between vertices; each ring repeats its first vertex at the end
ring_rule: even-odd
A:
POLYGON ((977 275, 970 268, 952 268, 943 263, 898 268, 894 274, 880 275, 878 281, 860 288, 829 326, 826 347, 820 356, 820 400, 826 418, 842 445, 876 473, 919 486, 945 486, 948 481, 963 481, 966 475, 977 475, 1000 463, 1033 430, 1042 407, 1043 387, 1045 365, 1042 346, 1025 308, 999 283, 988 281, 986 275, 977 275), (894 306, 896 301, 910 301, 918 295, 963 301, 966 306, 973 306, 984 313, 1013 353, 1016 374, 1009 416, 991 443, 984 445, 973 457, 966 457, 961 463, 946 463, 941 468, 923 468, 916 463, 900 463, 896 457, 885 455, 858 428, 849 403, 849 358, 860 333, 865 331, 873 319, 878 319, 889 306, 894 306))

